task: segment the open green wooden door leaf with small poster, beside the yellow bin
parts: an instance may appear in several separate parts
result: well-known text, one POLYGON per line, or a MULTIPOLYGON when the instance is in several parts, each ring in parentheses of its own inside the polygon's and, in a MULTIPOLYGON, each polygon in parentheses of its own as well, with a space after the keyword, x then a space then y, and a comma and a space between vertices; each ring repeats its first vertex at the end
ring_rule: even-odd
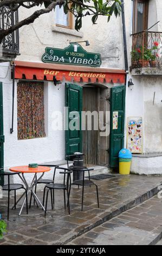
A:
MULTIPOLYGON (((125 86, 111 88, 111 132, 110 132, 110 166, 118 167, 119 151, 124 147, 125 124, 125 86), (118 129, 113 129, 113 115, 117 113, 118 129)), ((115 119, 115 117, 114 117, 115 119)))

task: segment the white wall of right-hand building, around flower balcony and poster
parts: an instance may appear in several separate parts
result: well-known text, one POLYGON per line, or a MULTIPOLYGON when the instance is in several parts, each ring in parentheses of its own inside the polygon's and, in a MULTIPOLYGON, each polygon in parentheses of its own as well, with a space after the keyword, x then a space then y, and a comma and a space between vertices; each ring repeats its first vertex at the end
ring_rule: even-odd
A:
MULTIPOLYGON (((160 20, 157 26, 152 28, 153 31, 160 31, 162 23, 161 16, 158 18, 159 9, 162 8, 162 2, 151 0, 149 4, 148 27, 160 20)), ((126 14, 131 13, 131 1, 125 1, 126 14)), ((126 34, 128 49, 128 64, 131 66, 131 50, 132 50, 132 21, 131 16, 126 15, 126 34)), ((162 131, 161 131, 161 77, 151 76, 131 76, 128 74, 128 80, 132 78, 134 83, 133 89, 127 87, 126 93, 126 118, 142 117, 144 123, 143 131, 143 149, 144 153, 162 152, 162 131), (155 92, 155 102, 153 105, 153 95, 155 92)), ((162 170, 161 170, 162 172, 162 170)))

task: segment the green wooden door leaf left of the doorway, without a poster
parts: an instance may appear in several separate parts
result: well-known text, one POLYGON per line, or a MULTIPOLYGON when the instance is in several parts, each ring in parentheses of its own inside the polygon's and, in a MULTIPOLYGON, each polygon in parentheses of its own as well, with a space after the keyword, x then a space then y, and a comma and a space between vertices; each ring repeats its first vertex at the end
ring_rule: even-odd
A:
POLYGON ((66 155, 74 152, 82 152, 82 131, 81 131, 81 111, 82 111, 82 87, 76 84, 66 84, 66 107, 68 107, 68 130, 66 130, 66 155), (69 117, 70 115, 70 117, 69 117), (69 129, 69 124, 72 129, 69 129), (76 128, 73 130, 73 128, 76 128))

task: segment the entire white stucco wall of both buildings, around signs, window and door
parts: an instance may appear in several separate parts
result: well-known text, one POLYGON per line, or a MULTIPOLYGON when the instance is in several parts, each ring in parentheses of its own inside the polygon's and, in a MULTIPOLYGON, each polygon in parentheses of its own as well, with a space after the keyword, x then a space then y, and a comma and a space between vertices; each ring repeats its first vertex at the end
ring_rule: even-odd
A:
MULTIPOLYGON (((162 31, 162 2, 150 0, 148 26, 160 20, 155 30, 162 31)), ((20 19, 27 16, 31 10, 20 11, 20 19)), ((132 1, 125 0, 126 36, 128 50, 128 64, 131 66, 132 50, 132 1)), ((20 29, 20 52, 17 60, 29 62, 41 62, 44 49, 48 46, 64 48, 70 41, 89 40, 90 46, 81 44, 88 52, 98 52, 102 56, 102 67, 124 69, 124 46, 122 39, 121 17, 114 16, 107 23, 107 17, 99 17, 98 25, 92 25, 90 17, 83 19, 80 33, 75 35, 55 31, 54 11, 42 15, 33 24, 20 29)), ((61 28, 60 28, 61 29, 61 28)), ((154 30, 153 29, 153 30, 154 30)), ((61 30, 60 30, 61 31, 61 30)), ((66 31, 67 33, 67 31, 66 31)), ((3 64, 2 64, 3 65, 3 64)), ((2 66, 1 65, 1 66, 2 66)), ((54 110, 63 111, 64 107, 64 83, 60 90, 54 87, 52 82, 47 82, 46 87, 46 138, 17 141, 17 112, 16 112, 16 86, 15 86, 15 117, 14 133, 10 135, 11 106, 12 106, 12 81, 7 64, 0 69, 1 81, 4 93, 4 164, 10 167, 29 162, 48 162, 64 159, 64 132, 51 130, 51 113, 54 110), (48 116, 47 116, 48 113, 48 116)), ((133 90, 126 86, 126 119, 127 117, 142 117, 144 122, 144 153, 162 152, 161 141, 161 77, 131 76, 129 72, 127 81, 132 78, 133 90), (155 92, 155 102, 153 94, 155 92)), ((126 130, 125 130, 126 145, 126 130)), ((142 161, 142 160, 140 160, 142 161)), ((139 161, 139 162, 140 162, 139 161)), ((161 161, 161 160, 160 160, 161 161)), ((160 164, 159 161, 159 164, 160 164)), ((136 160, 136 162, 138 162, 136 160)), ((133 164, 132 164, 133 166, 133 164)), ((139 166, 143 166, 139 164, 139 166)), ((132 167, 134 168, 134 167, 132 167)), ((135 165, 138 169, 138 165, 135 165)), ((159 168, 160 169, 160 168, 159 168)), ((132 169, 133 170, 133 169, 132 169)), ((138 172, 138 170, 137 170, 138 172)), ((162 172, 162 168, 161 168, 162 172)))

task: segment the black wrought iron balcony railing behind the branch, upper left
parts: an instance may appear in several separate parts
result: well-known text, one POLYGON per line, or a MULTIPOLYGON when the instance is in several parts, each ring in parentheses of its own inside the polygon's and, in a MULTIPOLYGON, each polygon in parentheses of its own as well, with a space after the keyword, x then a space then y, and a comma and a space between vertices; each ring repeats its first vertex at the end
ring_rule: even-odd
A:
MULTIPOLYGON (((0 8, 0 30, 8 29, 18 22, 18 10, 13 11, 10 7, 0 8)), ((19 35, 18 30, 5 36, 2 40, 4 53, 19 53, 19 35)))

